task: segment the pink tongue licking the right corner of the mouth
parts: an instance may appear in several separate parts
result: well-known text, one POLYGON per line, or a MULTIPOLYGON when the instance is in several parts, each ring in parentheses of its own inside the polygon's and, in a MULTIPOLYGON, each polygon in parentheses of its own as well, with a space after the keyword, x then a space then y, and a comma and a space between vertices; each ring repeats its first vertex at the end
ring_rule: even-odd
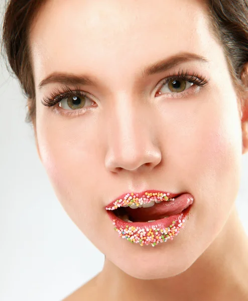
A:
POLYGON ((155 203, 153 207, 141 207, 137 209, 126 207, 125 209, 129 218, 133 222, 147 222, 151 220, 158 220, 165 216, 178 214, 192 203, 192 195, 187 193, 175 198, 175 201, 162 201, 159 204, 155 203))

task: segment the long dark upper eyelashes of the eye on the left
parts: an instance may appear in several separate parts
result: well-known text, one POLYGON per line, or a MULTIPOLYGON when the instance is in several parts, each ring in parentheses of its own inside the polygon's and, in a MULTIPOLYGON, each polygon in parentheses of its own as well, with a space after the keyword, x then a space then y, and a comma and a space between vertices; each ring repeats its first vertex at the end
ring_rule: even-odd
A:
POLYGON ((69 96, 85 96, 88 97, 86 93, 82 92, 79 87, 74 87, 73 90, 71 90, 69 87, 61 86, 60 89, 56 88, 50 96, 45 96, 42 99, 42 104, 45 106, 54 106, 58 102, 60 102, 64 98, 68 98, 69 96), (62 93, 61 93, 62 91, 62 93))

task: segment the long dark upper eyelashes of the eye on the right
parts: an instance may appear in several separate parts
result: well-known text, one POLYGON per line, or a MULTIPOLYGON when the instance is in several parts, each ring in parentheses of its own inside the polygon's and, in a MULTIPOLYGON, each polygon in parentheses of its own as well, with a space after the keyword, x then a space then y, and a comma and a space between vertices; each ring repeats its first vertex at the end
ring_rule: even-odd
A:
POLYGON ((179 72, 173 72, 171 75, 167 76, 164 81, 162 81, 162 85, 167 84, 169 81, 181 79, 185 81, 189 81, 193 84, 196 84, 197 86, 205 86, 209 81, 210 78, 201 76, 199 73, 194 73, 192 75, 189 75, 189 70, 184 71, 180 70, 179 72))

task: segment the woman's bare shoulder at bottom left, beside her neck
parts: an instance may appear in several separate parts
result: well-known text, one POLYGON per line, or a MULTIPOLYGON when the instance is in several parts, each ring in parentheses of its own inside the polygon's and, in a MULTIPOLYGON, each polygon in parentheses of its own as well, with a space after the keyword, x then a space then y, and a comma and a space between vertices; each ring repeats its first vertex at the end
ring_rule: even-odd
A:
MULTIPOLYGON (((99 275, 99 274, 98 274, 99 275)), ((88 282, 80 286, 62 301, 82 301, 82 300, 99 300, 101 291, 97 287, 98 275, 90 279, 88 282)))

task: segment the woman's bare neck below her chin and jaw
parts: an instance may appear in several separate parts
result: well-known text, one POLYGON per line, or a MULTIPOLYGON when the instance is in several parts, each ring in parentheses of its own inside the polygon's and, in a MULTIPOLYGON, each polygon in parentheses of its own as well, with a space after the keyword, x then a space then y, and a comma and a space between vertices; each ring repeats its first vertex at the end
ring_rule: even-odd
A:
POLYGON ((181 274, 166 279, 137 279, 105 259, 98 281, 109 300, 242 301, 248 297, 247 254, 248 239, 234 207, 217 238, 181 274))

